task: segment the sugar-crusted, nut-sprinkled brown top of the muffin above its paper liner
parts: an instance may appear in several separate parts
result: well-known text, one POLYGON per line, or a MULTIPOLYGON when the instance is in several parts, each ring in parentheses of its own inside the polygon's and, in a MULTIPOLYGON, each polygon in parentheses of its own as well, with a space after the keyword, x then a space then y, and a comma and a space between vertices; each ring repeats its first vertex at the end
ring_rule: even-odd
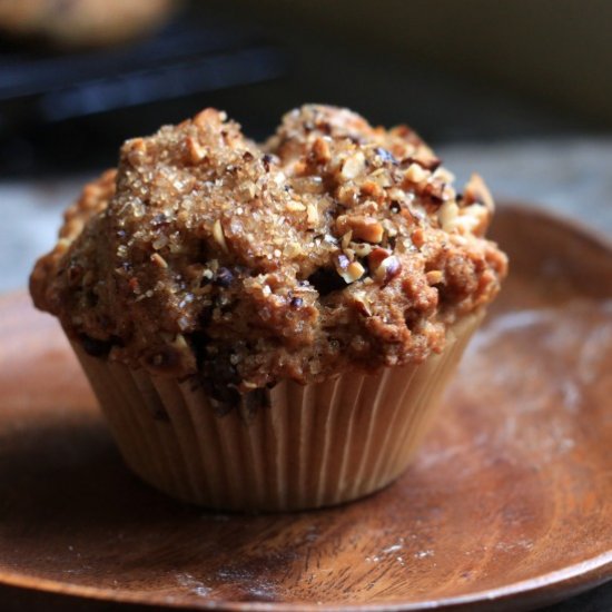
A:
POLYGON ((89 354, 226 402, 418 363, 506 273, 485 185, 452 182, 406 126, 305 106, 258 146, 206 109, 121 147, 30 289, 89 354))

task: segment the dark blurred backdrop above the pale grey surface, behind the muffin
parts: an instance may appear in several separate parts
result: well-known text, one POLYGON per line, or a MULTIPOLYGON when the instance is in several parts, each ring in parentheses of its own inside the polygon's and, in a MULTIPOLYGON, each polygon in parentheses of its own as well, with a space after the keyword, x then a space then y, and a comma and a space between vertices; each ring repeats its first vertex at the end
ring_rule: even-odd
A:
MULTIPOLYGON (((28 1, 65 13, 76 3, 0 0, 0 27, 2 3, 28 1)), ((112 165, 124 139, 206 106, 226 109, 255 138, 305 101, 407 121, 434 146, 612 128, 609 0, 150 6, 157 20, 120 40, 6 23, 2 176, 112 165)))

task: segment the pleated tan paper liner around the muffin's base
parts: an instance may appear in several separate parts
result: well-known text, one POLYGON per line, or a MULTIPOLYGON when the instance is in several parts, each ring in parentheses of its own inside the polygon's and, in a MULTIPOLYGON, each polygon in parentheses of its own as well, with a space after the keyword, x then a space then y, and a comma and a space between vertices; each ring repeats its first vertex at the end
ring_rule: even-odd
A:
POLYGON ((451 327, 443 353, 423 364, 306 386, 284 381, 226 414, 194 381, 73 348, 142 480, 214 509, 304 510, 367 495, 399 476, 482 317, 451 327))

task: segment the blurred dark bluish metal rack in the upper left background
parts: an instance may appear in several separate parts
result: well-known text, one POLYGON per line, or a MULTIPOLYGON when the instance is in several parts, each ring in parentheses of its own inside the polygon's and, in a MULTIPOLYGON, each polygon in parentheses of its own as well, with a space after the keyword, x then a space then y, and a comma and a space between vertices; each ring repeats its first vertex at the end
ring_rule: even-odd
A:
POLYGON ((286 56, 256 31, 185 13, 152 38, 45 56, 0 48, 0 132, 282 76, 286 56))

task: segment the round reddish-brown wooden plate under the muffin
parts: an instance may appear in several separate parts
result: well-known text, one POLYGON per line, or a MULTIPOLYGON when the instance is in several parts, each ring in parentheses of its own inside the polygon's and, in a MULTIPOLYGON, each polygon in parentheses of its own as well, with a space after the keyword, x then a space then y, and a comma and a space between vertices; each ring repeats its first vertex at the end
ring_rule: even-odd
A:
POLYGON ((500 610, 612 578, 612 249, 516 207, 495 236, 511 278, 416 463, 318 512, 208 513, 140 483, 55 320, 4 298, 0 582, 224 610, 500 610))

